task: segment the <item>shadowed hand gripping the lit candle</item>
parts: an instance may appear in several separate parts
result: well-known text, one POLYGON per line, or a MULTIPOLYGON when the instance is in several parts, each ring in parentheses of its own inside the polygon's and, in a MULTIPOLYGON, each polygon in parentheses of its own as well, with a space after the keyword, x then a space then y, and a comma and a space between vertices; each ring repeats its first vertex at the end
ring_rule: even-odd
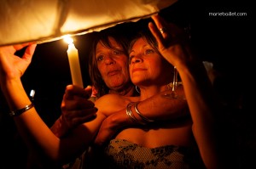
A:
POLYGON ((73 127, 90 121, 96 117, 96 107, 93 102, 88 100, 92 92, 91 87, 85 89, 73 85, 66 87, 65 94, 61 103, 61 117, 52 131, 58 137, 65 135, 73 127))

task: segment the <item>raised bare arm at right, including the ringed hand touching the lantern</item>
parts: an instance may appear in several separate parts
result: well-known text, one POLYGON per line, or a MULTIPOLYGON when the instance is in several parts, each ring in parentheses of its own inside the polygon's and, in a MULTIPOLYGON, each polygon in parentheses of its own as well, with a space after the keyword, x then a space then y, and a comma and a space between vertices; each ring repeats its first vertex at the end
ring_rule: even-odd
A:
POLYGON ((216 135, 219 125, 218 113, 221 109, 207 77, 207 71, 202 62, 191 53, 183 31, 176 25, 167 25, 158 15, 152 18, 156 26, 152 23, 148 26, 159 43, 160 53, 177 67, 181 76, 193 121, 193 133, 202 160, 207 168, 225 168, 222 159, 226 154, 219 149, 219 138, 216 135), (158 31, 161 27, 168 27, 169 31, 161 34, 158 31))

